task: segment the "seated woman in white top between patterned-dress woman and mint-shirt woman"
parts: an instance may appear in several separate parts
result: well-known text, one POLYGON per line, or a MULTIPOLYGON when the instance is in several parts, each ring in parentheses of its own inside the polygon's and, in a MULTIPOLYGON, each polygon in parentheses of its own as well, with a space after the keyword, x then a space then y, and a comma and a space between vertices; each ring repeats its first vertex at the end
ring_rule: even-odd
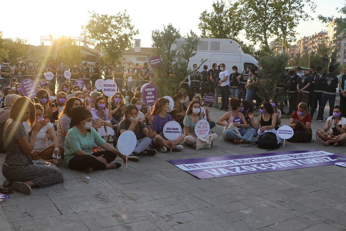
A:
MULTIPOLYGON (((35 104, 35 109, 36 109, 36 118, 38 118, 38 121, 42 120, 43 107, 40 104, 35 104)), ((25 121, 23 125, 25 128, 25 131, 30 136, 32 131, 28 121, 25 121)), ((57 156, 61 156, 64 153, 64 148, 59 145, 58 138, 56 136, 52 123, 48 123, 47 125, 43 126, 41 130, 37 133, 34 149, 38 150, 40 154, 38 156, 31 157, 32 160, 47 161, 49 163, 53 163, 56 166, 58 165, 58 160, 52 158, 52 153, 56 154, 57 156), (48 147, 48 142, 47 142, 48 136, 49 136, 49 139, 55 143, 53 144, 51 148, 45 150, 44 152, 41 152, 42 149, 45 149, 48 147)))

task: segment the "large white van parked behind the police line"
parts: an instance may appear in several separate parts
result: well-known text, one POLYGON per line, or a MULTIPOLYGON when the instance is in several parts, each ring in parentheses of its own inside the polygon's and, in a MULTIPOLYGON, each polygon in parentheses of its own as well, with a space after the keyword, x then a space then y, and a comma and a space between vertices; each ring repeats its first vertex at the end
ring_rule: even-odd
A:
MULTIPOLYGON (((193 70, 192 65, 201 64, 201 60, 206 60, 198 71, 203 71, 203 65, 208 65, 208 70, 212 68, 212 64, 224 63, 226 70, 232 72, 232 66, 238 67, 238 72, 242 73, 246 67, 258 66, 257 60, 249 54, 245 54, 240 45, 233 39, 228 38, 201 38, 202 42, 198 47, 197 54, 190 59, 189 67, 193 70)), ((172 45, 172 49, 181 46, 185 42, 185 38, 177 39, 176 44, 172 45)))

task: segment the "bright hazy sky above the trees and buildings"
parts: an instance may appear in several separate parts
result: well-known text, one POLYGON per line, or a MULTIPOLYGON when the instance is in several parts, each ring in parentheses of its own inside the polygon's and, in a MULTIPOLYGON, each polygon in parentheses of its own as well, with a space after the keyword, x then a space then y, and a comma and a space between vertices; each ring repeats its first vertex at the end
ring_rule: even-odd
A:
MULTIPOLYGON (((234 1, 234 0, 233 0, 234 1)), ((87 23, 88 10, 99 14, 117 14, 125 9, 130 15, 135 29, 139 34, 135 37, 141 39, 142 47, 151 47, 151 34, 154 29, 162 29, 163 25, 172 25, 180 28, 181 34, 186 35, 192 29, 198 35, 199 15, 205 9, 212 9, 211 0, 175 0, 175 1, 41 1, 28 4, 28 1, 19 0, 12 5, 12 10, 1 10, 1 17, 6 18, 10 24, 1 24, 4 37, 27 38, 32 45, 40 44, 40 36, 80 36, 81 25, 87 23), (120 2, 120 3, 118 3, 120 2), (131 2, 132 4, 129 4, 131 2), (117 4, 117 5, 116 5, 117 4), (60 17, 61 16, 61 17, 60 17)), ((315 20, 301 21, 296 28, 297 39, 303 36, 320 32, 326 27, 317 16, 334 15, 340 17, 336 7, 342 7, 345 0, 314 0, 317 4, 316 13, 311 14, 315 20)), ((309 12, 309 8, 306 8, 309 12)), ((344 16, 343 16, 344 17, 344 16)), ((239 36, 245 41, 245 37, 239 36)))

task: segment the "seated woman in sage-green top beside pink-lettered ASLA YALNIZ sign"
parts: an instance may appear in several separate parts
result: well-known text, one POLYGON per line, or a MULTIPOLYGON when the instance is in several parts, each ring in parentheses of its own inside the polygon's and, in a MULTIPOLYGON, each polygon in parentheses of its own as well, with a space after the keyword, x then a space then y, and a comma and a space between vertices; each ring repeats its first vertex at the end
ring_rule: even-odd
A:
MULTIPOLYGON (((201 115, 201 103, 198 100, 192 100, 183 121, 186 134, 184 138, 184 144, 186 146, 192 146, 193 148, 196 148, 197 136, 194 132, 194 129, 196 123, 201 119, 204 119, 201 115)), ((212 136, 211 143, 217 140, 216 133, 211 133, 210 135, 212 136)))

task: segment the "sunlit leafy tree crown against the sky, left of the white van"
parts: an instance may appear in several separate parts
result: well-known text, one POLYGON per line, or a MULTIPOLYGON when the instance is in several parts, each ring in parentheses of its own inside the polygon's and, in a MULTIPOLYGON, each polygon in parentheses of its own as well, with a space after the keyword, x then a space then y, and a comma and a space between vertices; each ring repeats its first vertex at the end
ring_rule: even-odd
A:
POLYGON ((116 15, 100 15, 94 11, 89 13, 88 23, 81 26, 82 35, 97 42, 95 48, 106 55, 106 62, 116 63, 123 51, 133 47, 138 30, 134 29, 126 10, 116 15))

